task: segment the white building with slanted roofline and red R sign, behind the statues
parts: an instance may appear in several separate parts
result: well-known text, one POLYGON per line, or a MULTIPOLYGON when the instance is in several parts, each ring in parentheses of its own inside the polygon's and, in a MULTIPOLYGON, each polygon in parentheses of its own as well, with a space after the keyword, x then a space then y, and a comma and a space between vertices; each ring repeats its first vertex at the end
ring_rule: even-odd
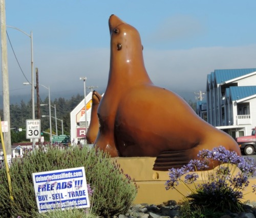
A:
POLYGON ((84 144, 86 136, 86 120, 87 128, 91 121, 92 110, 92 92, 86 96, 86 112, 84 110, 84 99, 70 113, 70 141, 72 143, 84 144), (86 119, 87 117, 87 119, 86 119))

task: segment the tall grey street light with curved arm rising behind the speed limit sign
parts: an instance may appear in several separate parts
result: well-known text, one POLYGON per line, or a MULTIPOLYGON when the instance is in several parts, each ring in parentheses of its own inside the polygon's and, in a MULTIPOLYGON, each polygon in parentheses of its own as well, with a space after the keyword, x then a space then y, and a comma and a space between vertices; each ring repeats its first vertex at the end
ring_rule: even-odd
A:
MULTIPOLYGON (((24 32, 23 30, 20 30, 16 27, 6 26, 12 29, 15 29, 19 32, 24 33, 26 36, 30 38, 30 44, 31 44, 31 100, 32 100, 32 119, 35 119, 35 92, 34 92, 34 58, 33 58, 33 33, 30 32, 30 35, 24 32)), ((34 150, 35 146, 35 139, 32 139, 32 150, 34 150)))

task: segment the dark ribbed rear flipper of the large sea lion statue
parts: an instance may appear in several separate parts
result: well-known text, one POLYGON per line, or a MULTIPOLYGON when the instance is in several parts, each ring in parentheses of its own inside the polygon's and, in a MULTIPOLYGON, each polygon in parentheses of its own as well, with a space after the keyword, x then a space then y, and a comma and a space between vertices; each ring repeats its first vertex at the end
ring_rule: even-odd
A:
POLYGON ((153 169, 155 171, 168 171, 173 167, 182 167, 191 160, 191 150, 162 152, 156 157, 153 169))

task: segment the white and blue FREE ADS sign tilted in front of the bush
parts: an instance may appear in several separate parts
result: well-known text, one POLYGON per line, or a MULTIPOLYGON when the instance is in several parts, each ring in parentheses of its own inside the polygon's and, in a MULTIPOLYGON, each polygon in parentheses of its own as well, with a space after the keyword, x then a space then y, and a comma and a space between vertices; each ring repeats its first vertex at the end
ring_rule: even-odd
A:
POLYGON ((39 213, 90 207, 84 167, 33 173, 39 213))

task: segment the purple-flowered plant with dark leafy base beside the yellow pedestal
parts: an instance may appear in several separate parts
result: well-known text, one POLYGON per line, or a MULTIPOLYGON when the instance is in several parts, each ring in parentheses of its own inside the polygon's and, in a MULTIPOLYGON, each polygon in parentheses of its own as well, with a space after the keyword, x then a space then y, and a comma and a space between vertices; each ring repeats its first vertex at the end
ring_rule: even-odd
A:
MULTIPOLYGON (((185 185, 190 193, 187 196, 180 193, 191 207, 240 212, 244 211, 241 201, 243 190, 249 185, 248 178, 255 175, 253 159, 241 157, 220 146, 212 151, 200 151, 197 160, 191 160, 181 168, 169 169, 169 180, 165 185, 166 190, 176 189, 178 192, 179 183, 185 185), (207 171, 210 163, 218 165, 215 171, 207 171), (199 176, 202 183, 197 185, 199 176)), ((252 191, 255 190, 256 185, 252 185, 252 191)))

